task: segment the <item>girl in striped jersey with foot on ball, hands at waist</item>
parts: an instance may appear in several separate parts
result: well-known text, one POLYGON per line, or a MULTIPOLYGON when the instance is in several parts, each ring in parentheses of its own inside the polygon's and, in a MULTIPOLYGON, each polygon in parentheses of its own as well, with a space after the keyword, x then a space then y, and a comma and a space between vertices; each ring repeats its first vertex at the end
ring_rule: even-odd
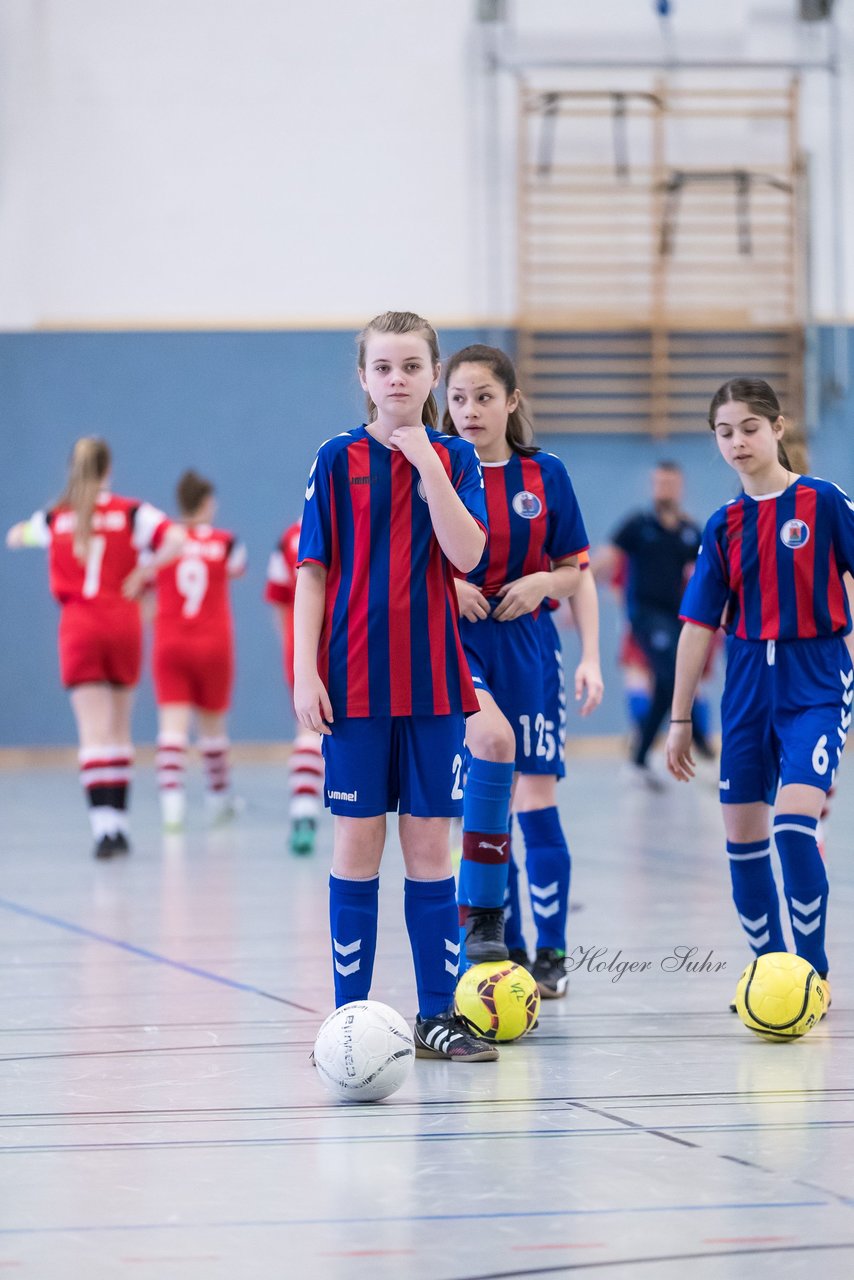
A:
MULTIPOLYGON (((553 643, 551 650, 542 646, 538 617, 547 598, 570 596, 577 589, 579 554, 586 550, 588 536, 566 467, 531 443, 516 371, 504 352, 465 347, 451 357, 446 384, 444 425, 478 449, 490 531, 479 563, 466 581, 457 582, 462 643, 480 708, 466 724, 471 759, 460 865, 465 957, 475 964, 507 956, 504 893, 513 773, 545 778, 562 769, 561 724, 548 698, 549 672, 560 657, 553 643)), ((536 892, 548 891, 549 901, 540 906, 556 924, 560 920, 561 937, 551 937, 549 946, 542 947, 534 974, 539 972, 547 993, 562 995, 560 925, 566 920, 570 855, 548 788, 542 800, 542 805, 538 799, 526 806, 520 824, 530 883, 536 892)))

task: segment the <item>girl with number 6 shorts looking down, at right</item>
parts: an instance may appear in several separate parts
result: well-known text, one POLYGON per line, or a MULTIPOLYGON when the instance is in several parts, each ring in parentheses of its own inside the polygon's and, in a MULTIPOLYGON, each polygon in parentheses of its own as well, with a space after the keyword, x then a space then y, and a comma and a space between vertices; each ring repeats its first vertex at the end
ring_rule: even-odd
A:
POLYGON ((694 776, 691 700, 714 630, 727 631, 721 803, 732 897, 755 955, 785 951, 771 815, 795 950, 827 977, 827 876, 816 828, 851 723, 854 502, 798 475, 771 387, 737 378, 709 410, 744 492, 711 517, 681 617, 667 764, 694 776))

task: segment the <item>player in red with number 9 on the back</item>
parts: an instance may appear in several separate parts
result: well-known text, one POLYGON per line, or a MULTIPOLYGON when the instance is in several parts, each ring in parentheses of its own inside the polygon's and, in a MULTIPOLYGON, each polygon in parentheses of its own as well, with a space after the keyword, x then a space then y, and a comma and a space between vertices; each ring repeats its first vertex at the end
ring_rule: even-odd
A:
POLYGON ((179 559, 156 577, 154 685, 159 709, 157 785, 164 827, 179 831, 186 813, 184 774, 191 721, 198 722, 205 808, 211 822, 233 817, 229 791, 228 714, 234 681, 229 579, 246 568, 246 549, 214 529, 210 480, 186 471, 178 508, 187 531, 179 559))

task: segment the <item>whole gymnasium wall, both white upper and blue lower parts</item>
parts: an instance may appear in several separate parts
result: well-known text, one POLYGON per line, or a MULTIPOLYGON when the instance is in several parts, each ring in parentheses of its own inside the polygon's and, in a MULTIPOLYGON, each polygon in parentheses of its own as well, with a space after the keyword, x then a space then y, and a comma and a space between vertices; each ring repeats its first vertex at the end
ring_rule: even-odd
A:
MULTIPOLYGON (((680 0, 667 24, 650 0, 606 8, 607 27, 588 0, 508 0, 507 23, 487 27, 478 0, 0 4, 3 521, 59 492, 85 431, 110 439, 119 490, 166 507, 183 467, 207 470, 251 553, 234 589, 236 737, 291 732, 264 568, 316 444, 360 420, 352 330, 406 307, 438 324, 446 352, 511 342, 516 79, 490 73, 488 46, 526 64, 828 56, 827 26, 796 22, 795 0, 680 0)), ((836 13, 845 159, 854 12, 836 13)), ((599 79, 615 74, 630 73, 599 79)), ((854 225, 854 166, 834 159, 830 86, 804 73, 800 143, 812 310, 841 321, 854 253, 836 253, 832 209, 837 192, 854 225)), ((814 346, 814 467, 854 488, 854 393, 832 334, 816 330, 814 346)), ((698 516, 732 492, 705 434, 549 447, 594 541, 644 499, 662 454, 686 467, 698 516)), ((0 744, 70 744, 41 554, 0 552, 0 744)), ((597 733, 622 726, 604 605, 611 689, 579 724, 597 733)), ((152 732, 146 686, 137 735, 152 732)))

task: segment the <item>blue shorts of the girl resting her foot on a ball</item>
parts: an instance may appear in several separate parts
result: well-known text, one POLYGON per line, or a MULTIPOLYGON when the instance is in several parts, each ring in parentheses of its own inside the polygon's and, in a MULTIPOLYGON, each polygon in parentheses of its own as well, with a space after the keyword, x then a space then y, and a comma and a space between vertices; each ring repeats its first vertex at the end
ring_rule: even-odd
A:
MULTIPOLYGON (((495 699, 516 736, 519 773, 553 774, 560 764, 557 712, 547 708, 539 623, 533 613, 512 622, 460 620, 475 689, 495 699)), ((554 657, 551 664, 553 669, 554 657)), ((557 707, 557 698, 553 699, 557 707)))

